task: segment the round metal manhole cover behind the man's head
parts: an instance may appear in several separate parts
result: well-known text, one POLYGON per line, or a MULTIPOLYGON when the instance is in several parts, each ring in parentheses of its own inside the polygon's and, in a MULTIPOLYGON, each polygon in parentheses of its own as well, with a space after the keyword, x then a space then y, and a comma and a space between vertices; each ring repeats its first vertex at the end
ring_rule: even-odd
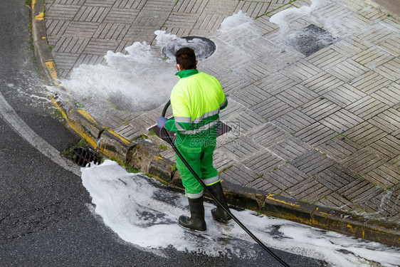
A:
POLYGON ((197 36, 186 36, 175 39, 167 43, 162 48, 162 53, 166 58, 175 58, 175 53, 182 47, 189 47, 196 53, 196 59, 201 61, 208 58, 216 50, 216 45, 210 39, 197 36))

